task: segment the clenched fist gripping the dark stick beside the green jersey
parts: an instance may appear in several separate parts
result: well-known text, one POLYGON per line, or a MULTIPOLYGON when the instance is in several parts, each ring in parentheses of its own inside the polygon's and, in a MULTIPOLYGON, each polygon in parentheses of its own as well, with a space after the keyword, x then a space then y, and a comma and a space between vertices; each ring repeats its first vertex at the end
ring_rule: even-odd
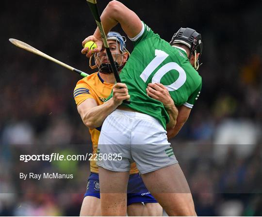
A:
POLYGON ((116 83, 113 87, 113 101, 115 106, 120 106, 125 99, 130 99, 127 85, 116 83))

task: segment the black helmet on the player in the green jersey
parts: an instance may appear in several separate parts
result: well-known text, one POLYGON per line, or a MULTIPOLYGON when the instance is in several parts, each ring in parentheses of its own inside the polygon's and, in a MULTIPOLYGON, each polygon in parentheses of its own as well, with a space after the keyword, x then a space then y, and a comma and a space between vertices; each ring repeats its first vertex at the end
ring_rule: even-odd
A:
POLYGON ((202 38, 201 34, 199 34, 196 30, 190 28, 180 28, 180 30, 173 35, 169 44, 173 46, 177 43, 181 43, 189 47, 191 54, 194 54, 195 50, 197 53, 200 53, 200 55, 202 54, 202 38))

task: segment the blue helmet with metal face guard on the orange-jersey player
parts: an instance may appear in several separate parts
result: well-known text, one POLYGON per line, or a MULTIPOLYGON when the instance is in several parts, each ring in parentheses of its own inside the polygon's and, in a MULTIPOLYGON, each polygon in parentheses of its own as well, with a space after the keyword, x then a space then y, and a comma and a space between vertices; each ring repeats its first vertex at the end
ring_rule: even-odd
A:
MULTIPOLYGON (((118 32, 110 31, 107 34, 107 40, 115 40, 116 41, 116 52, 115 53, 112 52, 112 54, 115 55, 115 66, 117 68, 117 71, 120 71, 124 67, 124 65, 125 65, 125 62, 123 63, 124 53, 127 52, 128 55, 130 55, 130 53, 126 49, 126 44, 125 44, 126 37, 120 35, 118 32), (118 50, 120 50, 121 53, 119 53, 118 50), (118 62, 116 62, 116 59, 118 58, 118 56, 122 57, 122 60, 121 60, 120 64, 118 62)), ((113 69, 112 69, 111 63, 110 62, 103 63, 101 61, 101 59, 100 59, 102 56, 106 56, 106 59, 108 60, 108 57, 107 57, 106 53, 103 53, 103 54, 102 53, 96 53, 93 56, 95 58, 96 65, 92 66, 92 63, 91 63, 92 62, 91 61, 92 57, 90 57, 90 59, 89 59, 90 68, 94 69, 94 68, 98 67, 99 72, 103 73, 103 74, 111 74, 111 73, 113 73, 113 69)))

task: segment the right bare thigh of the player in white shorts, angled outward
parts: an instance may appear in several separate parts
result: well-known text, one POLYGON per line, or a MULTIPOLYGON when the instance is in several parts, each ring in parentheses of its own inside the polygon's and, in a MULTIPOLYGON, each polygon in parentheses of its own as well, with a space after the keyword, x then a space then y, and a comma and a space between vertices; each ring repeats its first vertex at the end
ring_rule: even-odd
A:
POLYGON ((169 216, 195 216, 192 195, 179 164, 142 174, 147 189, 169 216))

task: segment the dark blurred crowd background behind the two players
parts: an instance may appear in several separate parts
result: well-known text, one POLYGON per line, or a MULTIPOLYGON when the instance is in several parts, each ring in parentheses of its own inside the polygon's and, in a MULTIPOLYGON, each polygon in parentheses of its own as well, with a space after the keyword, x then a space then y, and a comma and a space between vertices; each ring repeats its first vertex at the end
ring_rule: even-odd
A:
MULTIPOLYGON (((202 91, 171 140, 197 214, 261 216, 262 1, 121 1, 166 41, 180 27, 202 34, 202 91)), ((98 1, 100 11, 108 2, 98 1)), ((0 12, 0 215, 78 216, 89 162, 21 164, 17 158, 36 149, 91 152, 73 99, 81 78, 8 38, 92 73, 81 49, 95 21, 85 0, 2 0, 0 12), (75 178, 22 182, 21 170, 72 172, 75 178)))

